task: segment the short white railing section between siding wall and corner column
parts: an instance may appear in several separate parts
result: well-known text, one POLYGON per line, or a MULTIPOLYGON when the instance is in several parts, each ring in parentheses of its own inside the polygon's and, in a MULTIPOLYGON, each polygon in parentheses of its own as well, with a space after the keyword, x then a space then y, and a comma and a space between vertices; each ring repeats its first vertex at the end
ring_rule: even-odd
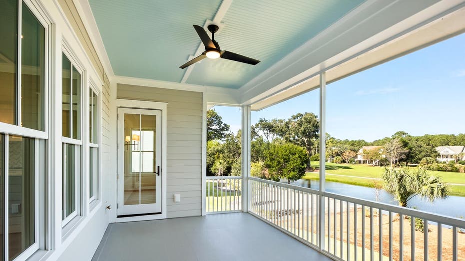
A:
POLYGON ((207 214, 242 211, 242 177, 207 177, 207 214))

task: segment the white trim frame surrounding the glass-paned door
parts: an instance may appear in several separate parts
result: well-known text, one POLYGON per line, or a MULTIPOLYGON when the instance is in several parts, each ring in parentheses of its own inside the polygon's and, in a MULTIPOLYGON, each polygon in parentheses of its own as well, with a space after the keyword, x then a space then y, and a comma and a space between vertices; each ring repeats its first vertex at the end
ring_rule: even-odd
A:
MULTIPOLYGON (((142 221, 142 220, 155 220, 166 219, 166 103, 165 102, 151 102, 151 101, 138 101, 138 100, 125 100, 116 99, 117 108, 132 108, 132 109, 152 109, 161 110, 161 214, 144 215, 135 217, 117 218, 117 211, 115 212, 115 222, 129 222, 129 221, 142 221)), ((118 115, 122 117, 122 115, 118 115)), ((123 141, 119 141, 123 142, 123 141)), ((124 148, 124 144, 118 144, 118 148, 124 148)), ((116 155, 117 158, 117 155, 116 155)), ((120 171, 117 168, 117 171, 120 171)), ((122 175, 122 173, 120 174, 122 175)), ((114 175, 114 184, 118 188, 118 180, 114 175)), ((118 191, 114 194, 116 202, 118 202, 118 191)))

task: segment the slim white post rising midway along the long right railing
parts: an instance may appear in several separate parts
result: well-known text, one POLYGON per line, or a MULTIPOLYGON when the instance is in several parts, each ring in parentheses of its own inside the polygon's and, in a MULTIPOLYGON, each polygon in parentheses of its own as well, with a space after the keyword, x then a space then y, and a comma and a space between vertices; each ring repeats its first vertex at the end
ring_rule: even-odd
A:
MULTIPOLYGON (((320 192, 326 190, 326 72, 320 73, 320 192)), ((320 250, 325 249, 325 198, 320 196, 320 250)), ((328 217, 329 219, 330 217, 328 217)))

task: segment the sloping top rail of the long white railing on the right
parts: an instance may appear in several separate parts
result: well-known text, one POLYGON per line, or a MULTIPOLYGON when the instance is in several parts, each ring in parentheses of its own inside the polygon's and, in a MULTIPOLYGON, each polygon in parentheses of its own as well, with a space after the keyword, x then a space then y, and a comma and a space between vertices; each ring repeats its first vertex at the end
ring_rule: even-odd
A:
POLYGON ((465 228, 465 220, 459 219, 459 218, 453 218, 453 217, 448 217, 444 216, 441 214, 435 214, 431 212, 426 212, 426 211, 421 211, 421 210, 415 210, 415 209, 409 209, 409 208, 404 208, 404 207, 399 207, 395 205, 390 205, 386 203, 381 203, 381 202, 376 202, 376 201, 371 201, 371 200, 364 200, 364 199, 359 199, 359 198, 354 198, 354 197, 349 197, 349 196, 344 196, 336 193, 330 193, 330 192, 320 192, 318 190, 314 189, 309 189, 309 188, 304 188, 296 185, 291 185, 291 184, 285 184, 281 182, 276 182, 276 181, 270 181, 270 180, 264 180, 256 177, 248 177, 249 180, 255 180, 271 185, 276 185, 276 186, 281 186, 285 188, 290 188, 294 190, 299 190, 299 191, 304 191, 308 193, 313 193, 317 195, 321 195, 324 197, 329 197, 337 200, 343 200, 347 201, 350 203, 355 203, 358 205, 364 205, 367 207, 372 207, 376 209, 381 209, 384 211, 391 211, 394 213, 399 213, 402 215, 406 216, 414 216, 416 218, 421 218, 421 219, 426 219, 428 221, 432 222, 438 222, 444 225, 450 225, 450 226, 456 226, 459 228, 465 228))

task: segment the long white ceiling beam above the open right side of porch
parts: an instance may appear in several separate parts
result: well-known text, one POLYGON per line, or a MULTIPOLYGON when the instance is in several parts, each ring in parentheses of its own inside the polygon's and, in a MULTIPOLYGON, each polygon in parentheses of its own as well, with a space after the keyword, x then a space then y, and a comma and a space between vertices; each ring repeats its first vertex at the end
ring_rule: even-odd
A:
POLYGON ((465 0, 368 0, 239 88, 254 104, 457 10, 465 0), (396 15, 393 15, 396 14, 396 15))

